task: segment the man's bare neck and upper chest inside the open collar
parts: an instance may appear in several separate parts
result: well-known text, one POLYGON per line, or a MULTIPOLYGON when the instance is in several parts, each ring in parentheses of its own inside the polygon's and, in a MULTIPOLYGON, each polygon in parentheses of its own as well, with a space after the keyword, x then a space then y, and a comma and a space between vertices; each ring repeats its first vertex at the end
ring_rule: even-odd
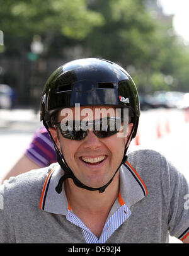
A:
POLYGON ((98 190, 90 191, 76 187, 71 179, 64 182, 64 189, 74 214, 96 237, 100 238, 108 214, 118 197, 118 173, 103 193, 99 193, 98 190))

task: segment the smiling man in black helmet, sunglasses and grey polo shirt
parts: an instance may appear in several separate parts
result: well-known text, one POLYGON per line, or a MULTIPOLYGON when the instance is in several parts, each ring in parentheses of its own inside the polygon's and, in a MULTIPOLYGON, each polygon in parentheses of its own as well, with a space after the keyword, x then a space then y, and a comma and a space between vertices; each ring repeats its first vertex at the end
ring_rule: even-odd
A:
POLYGON ((54 71, 41 120, 57 163, 0 187, 1 243, 187 242, 185 177, 156 151, 128 151, 139 116, 137 88, 117 64, 79 59, 54 71))

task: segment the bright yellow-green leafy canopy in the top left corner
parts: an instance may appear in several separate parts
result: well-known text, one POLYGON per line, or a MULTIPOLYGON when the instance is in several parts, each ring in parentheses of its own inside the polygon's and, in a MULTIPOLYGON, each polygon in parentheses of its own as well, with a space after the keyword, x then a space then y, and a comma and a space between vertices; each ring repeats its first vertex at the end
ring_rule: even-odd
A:
POLYGON ((62 33, 82 39, 93 26, 103 25, 103 16, 88 11, 86 0, 0 0, 0 27, 4 33, 19 37, 62 33))

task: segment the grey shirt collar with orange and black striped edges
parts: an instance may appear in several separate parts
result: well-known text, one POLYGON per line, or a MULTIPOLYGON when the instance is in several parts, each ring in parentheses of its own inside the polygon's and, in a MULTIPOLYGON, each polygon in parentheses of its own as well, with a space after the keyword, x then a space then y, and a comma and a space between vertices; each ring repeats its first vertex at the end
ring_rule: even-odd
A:
MULTIPOLYGON (((70 209, 64 192, 64 183, 60 194, 55 190, 55 187, 62 175, 64 175, 64 172, 60 168, 59 164, 53 164, 52 170, 49 172, 49 175, 44 182, 40 197, 40 209, 43 211, 66 215, 67 210, 70 209)), ((146 195, 146 186, 137 172, 135 172, 134 168, 132 168, 129 162, 122 165, 120 167, 120 193, 117 200, 119 206, 126 204, 130 207, 136 202, 142 200, 146 195)), ((117 208, 118 203, 114 204, 113 208, 117 208)), ((112 211, 115 210, 116 209, 112 209, 112 211)))

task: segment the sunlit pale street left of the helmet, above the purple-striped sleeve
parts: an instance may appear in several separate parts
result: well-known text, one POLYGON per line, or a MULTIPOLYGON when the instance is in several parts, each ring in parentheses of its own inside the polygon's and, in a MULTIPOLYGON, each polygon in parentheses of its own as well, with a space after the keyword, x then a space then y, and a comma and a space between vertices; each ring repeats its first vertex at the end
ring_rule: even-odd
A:
POLYGON ((0 154, 3 167, 0 180, 21 156, 41 125, 39 113, 33 110, 0 110, 0 154))

